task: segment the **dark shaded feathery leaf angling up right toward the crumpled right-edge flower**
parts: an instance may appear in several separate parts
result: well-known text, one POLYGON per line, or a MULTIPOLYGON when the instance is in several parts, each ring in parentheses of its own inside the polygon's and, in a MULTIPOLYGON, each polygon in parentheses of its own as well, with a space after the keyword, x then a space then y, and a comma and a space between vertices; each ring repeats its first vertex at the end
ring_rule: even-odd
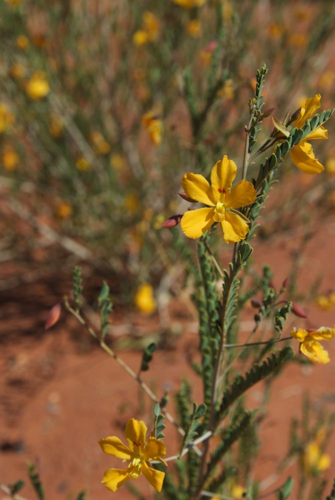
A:
POLYGON ((224 417, 229 406, 247 389, 255 383, 270 375, 277 370, 282 364, 293 357, 294 351, 291 347, 284 347, 276 353, 272 353, 260 365, 254 365, 250 371, 244 374, 244 377, 238 375, 232 382, 231 386, 224 391, 223 398, 216 413, 215 421, 219 423, 224 417))

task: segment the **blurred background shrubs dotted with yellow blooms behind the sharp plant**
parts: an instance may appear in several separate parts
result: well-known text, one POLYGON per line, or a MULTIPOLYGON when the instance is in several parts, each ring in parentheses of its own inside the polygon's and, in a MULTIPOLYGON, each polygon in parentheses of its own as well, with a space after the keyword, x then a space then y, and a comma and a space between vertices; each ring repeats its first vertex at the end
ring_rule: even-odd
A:
MULTIPOLYGON (((176 279, 192 241, 162 223, 187 209, 181 177, 207 175, 223 153, 241 165, 264 62, 277 119, 317 92, 331 107, 334 27, 329 1, 0 2, 2 259, 38 255, 69 272, 87 260, 116 273, 128 301, 141 283, 176 279)), ((267 118, 260 144, 271 128, 267 118)), ((326 175, 280 168, 287 201, 270 206, 261 236, 292 214, 310 220, 304 196, 322 216, 334 209, 332 141, 318 152, 326 175)))

